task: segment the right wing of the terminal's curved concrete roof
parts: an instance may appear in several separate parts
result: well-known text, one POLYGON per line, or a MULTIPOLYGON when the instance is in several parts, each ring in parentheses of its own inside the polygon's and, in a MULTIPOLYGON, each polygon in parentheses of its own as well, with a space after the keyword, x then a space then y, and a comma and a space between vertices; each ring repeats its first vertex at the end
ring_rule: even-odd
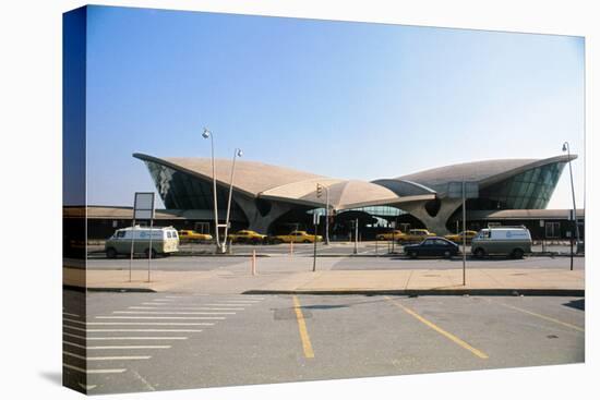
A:
MULTIPOLYGON (((571 155, 571 159, 575 158, 577 158, 576 155, 571 155)), ((568 160, 568 156, 556 156, 544 159, 500 159, 455 163, 403 175, 396 180, 417 182, 436 192, 444 192, 448 182, 465 179, 468 182, 478 182, 480 186, 485 186, 531 168, 554 162, 567 162, 568 160)))

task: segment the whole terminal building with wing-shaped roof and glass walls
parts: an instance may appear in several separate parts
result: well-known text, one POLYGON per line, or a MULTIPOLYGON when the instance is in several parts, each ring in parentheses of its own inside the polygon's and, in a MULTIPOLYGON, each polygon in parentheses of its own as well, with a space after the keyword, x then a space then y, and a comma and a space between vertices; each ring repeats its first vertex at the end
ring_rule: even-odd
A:
MULTIPOLYGON (((185 221, 189 229, 193 228, 190 222, 214 229, 211 158, 158 158, 144 154, 133 157, 148 168, 166 206, 166 216, 172 216, 179 222, 176 225, 185 221)), ((577 156, 466 162, 370 182, 237 160, 230 221, 233 230, 247 228, 261 233, 313 231, 312 214, 324 215, 328 193, 333 238, 346 238, 355 220, 359 221, 364 239, 393 225, 445 234, 461 226, 461 198, 456 195, 456 187, 466 182, 469 193, 475 193, 467 199, 468 228, 480 229, 495 220, 504 225, 532 221, 532 226, 543 230, 543 220, 552 220, 559 221, 557 237, 564 237, 569 230, 568 210, 545 207, 569 157, 577 156), (316 184, 326 187, 320 197, 316 184)), ((218 215, 223 222, 231 166, 231 160, 215 160, 218 215)), ((583 217, 583 211, 577 214, 583 217)), ((322 227, 323 223, 320 230, 322 227)))

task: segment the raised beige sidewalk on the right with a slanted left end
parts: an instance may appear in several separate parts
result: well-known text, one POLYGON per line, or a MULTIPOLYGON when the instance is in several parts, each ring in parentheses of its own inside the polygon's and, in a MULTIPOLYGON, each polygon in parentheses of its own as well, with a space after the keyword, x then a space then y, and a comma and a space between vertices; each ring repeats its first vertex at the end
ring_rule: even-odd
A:
POLYGON ((584 295, 583 270, 461 269, 296 272, 247 293, 584 295))

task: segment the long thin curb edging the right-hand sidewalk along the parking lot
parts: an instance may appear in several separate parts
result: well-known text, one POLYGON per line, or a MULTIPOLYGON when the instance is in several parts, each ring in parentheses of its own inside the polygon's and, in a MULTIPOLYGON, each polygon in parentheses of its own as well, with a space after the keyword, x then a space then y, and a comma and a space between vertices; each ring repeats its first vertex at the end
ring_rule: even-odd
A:
POLYGON ((315 295, 547 295, 583 298, 585 289, 340 289, 340 290, 248 290, 242 294, 315 294, 315 295))

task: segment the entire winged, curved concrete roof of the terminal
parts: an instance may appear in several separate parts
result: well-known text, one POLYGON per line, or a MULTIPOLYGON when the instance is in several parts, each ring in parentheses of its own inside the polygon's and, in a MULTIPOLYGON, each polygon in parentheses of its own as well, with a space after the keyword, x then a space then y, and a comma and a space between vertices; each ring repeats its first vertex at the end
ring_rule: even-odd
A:
MULTIPOLYGON (((189 173, 212 182, 211 158, 157 158, 144 154, 133 157, 154 162, 173 170, 189 173)), ((343 210, 377 205, 428 201, 445 197, 449 182, 477 182, 485 187, 528 169, 554 162, 567 162, 576 155, 556 156, 545 159, 502 159, 458 163, 433 168, 394 179, 372 182, 343 180, 257 161, 237 160, 233 191, 252 198, 291 203, 311 208, 324 207, 325 193, 316 197, 320 183, 328 189, 329 205, 343 210)), ((231 160, 215 159, 216 181, 221 187, 229 187, 231 160)))

